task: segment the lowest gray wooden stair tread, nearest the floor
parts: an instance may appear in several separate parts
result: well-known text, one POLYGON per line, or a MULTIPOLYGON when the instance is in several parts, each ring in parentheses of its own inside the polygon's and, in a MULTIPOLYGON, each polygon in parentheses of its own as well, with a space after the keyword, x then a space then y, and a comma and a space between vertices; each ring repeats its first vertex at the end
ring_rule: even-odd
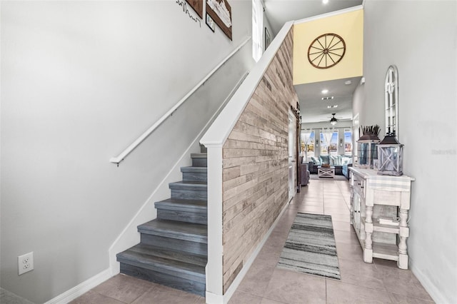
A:
POLYGON ((165 250, 155 246, 138 244, 117 255, 121 263, 135 263, 144 268, 174 270, 178 273, 205 277, 206 257, 165 250), (149 267, 148 267, 149 266, 149 267))

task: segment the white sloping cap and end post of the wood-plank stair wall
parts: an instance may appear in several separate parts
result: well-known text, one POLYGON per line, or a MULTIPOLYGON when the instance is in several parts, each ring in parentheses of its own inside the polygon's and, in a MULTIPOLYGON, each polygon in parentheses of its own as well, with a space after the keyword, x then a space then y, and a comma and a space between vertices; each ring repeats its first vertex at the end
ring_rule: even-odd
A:
POLYGON ((243 269, 238 273, 231 287, 224 293, 224 269, 222 265, 223 246, 223 188, 222 188, 222 148, 229 137, 233 126, 251 99, 251 96, 273 61, 278 49, 283 44, 293 21, 289 21, 271 42, 261 59, 251 69, 246 80, 233 94, 229 103, 219 114, 208 131, 201 138, 200 143, 208 149, 208 263, 206 264, 206 303, 227 303, 233 295, 236 286, 246 274, 246 269, 252 260, 246 261, 243 269))

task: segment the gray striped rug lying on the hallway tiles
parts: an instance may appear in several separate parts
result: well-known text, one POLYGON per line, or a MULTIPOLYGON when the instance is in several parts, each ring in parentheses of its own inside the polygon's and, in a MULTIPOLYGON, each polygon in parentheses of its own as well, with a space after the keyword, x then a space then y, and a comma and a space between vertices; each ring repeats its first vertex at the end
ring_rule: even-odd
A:
POLYGON ((278 267, 340 280, 331 216, 297 213, 278 267))

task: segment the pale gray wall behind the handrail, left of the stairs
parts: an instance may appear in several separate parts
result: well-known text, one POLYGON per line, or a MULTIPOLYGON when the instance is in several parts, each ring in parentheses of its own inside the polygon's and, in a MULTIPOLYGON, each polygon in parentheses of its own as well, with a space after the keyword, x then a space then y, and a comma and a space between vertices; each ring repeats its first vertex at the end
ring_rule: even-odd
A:
POLYGON ((110 245, 252 64, 248 44, 109 163, 251 35, 251 1, 230 3, 233 41, 178 2, 1 1, 2 288, 43 303, 106 270, 110 245), (18 276, 30 251, 35 269, 18 276))

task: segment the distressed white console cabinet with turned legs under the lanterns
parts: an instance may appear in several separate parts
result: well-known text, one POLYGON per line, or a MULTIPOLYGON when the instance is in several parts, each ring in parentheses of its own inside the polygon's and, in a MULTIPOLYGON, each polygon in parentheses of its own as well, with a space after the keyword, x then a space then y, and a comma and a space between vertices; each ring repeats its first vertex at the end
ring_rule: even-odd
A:
MULTIPOLYGON (((408 269, 406 240, 411 201, 410 176, 380 176, 376 171, 349 168, 351 173, 351 224, 363 248, 363 260, 396 260, 408 269), (397 226, 383 225, 379 218, 398 220, 397 226)), ((382 220, 381 220, 382 221, 382 220)))

